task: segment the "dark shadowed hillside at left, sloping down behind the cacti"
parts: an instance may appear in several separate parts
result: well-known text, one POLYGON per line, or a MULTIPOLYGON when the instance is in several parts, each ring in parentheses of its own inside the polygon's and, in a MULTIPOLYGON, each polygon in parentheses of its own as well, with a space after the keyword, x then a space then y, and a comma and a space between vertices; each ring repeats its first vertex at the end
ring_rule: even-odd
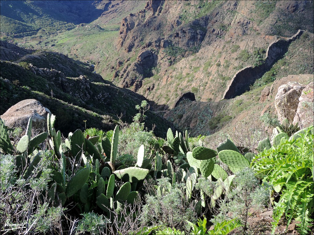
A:
MULTIPOLYGON (((114 128, 120 115, 122 121, 130 123, 137 112, 135 105, 144 100, 103 81, 100 75, 90 72, 88 65, 55 52, 37 51, 16 62, 1 60, 0 75, 1 114, 25 98, 35 98, 57 115, 57 126, 64 133, 84 129, 84 120, 87 127, 104 130, 114 128)), ((145 123, 148 128, 156 124, 159 136, 171 126, 151 111, 145 123)))

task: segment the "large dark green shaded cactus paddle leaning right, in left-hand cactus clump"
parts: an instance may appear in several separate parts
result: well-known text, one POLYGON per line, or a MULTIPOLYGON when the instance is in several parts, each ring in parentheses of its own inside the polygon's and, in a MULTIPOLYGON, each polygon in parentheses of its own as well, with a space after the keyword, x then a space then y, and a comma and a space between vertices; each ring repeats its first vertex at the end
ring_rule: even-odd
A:
POLYGON ((82 170, 78 171, 69 180, 67 189, 65 191, 65 194, 67 195, 68 198, 83 187, 83 185, 89 178, 89 172, 90 172, 89 167, 85 167, 82 170))

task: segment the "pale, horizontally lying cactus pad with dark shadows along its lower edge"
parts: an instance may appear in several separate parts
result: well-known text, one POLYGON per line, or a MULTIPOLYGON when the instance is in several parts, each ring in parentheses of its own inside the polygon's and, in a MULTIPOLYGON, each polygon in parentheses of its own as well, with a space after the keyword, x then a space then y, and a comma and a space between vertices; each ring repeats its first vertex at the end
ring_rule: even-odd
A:
POLYGON ((139 167, 128 167, 122 170, 116 170, 113 172, 119 179, 125 182, 138 182, 139 180, 145 179, 148 175, 148 169, 142 169, 139 167))

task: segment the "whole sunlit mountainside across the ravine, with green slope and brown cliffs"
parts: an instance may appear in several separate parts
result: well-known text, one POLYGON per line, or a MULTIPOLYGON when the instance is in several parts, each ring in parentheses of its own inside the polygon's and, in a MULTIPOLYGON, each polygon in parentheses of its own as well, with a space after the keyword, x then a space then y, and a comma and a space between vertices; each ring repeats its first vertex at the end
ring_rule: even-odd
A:
POLYGON ((272 107, 259 103, 265 86, 289 74, 313 74, 313 1, 92 6, 102 13, 91 24, 25 37, 24 47, 94 64, 104 79, 149 99, 176 128, 192 134, 213 133, 241 112, 259 116, 254 107, 272 107))

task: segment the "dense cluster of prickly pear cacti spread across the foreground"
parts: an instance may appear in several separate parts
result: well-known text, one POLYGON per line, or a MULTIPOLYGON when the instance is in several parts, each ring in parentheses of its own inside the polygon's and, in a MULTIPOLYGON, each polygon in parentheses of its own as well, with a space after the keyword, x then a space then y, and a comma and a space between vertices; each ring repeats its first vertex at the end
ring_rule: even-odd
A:
MULTIPOLYGON (((141 145, 136 164, 122 165, 116 163, 118 125, 111 139, 108 136, 101 141, 99 136, 85 138, 84 133, 78 129, 69 133, 63 142, 60 131, 54 128, 55 119, 54 115, 48 114, 48 133, 43 132, 33 138, 30 119, 25 135, 15 146, 1 120, 1 152, 15 154, 17 176, 26 179, 40 163, 44 151, 40 145, 47 141, 47 147, 50 147, 51 153, 59 162, 53 167, 51 181, 44 192, 51 206, 65 206, 74 202, 80 213, 98 212, 111 220, 114 217, 123 219, 123 211, 127 207, 136 207, 137 200, 144 200, 147 195, 164 197, 171 194, 178 185, 183 185, 185 206, 193 208, 193 213, 200 216, 208 208, 219 206, 221 199, 232 192, 237 173, 250 168, 252 160, 257 157, 248 149, 237 147, 229 139, 220 143, 216 149, 206 148, 202 142, 198 143, 199 146, 190 147, 187 131, 185 136, 177 131, 173 135, 169 128, 166 145, 159 151, 153 148, 148 152, 147 147, 141 145), (180 154, 184 156, 185 163, 174 165, 175 157, 180 154), (165 185, 157 183, 163 179, 167 179, 165 185), (207 185, 200 183, 202 179, 208 185, 213 183, 215 187, 208 190, 207 185), (145 182, 152 183, 154 190, 145 188, 145 182)), ((305 132, 306 129, 302 129, 289 137, 276 128, 271 140, 261 140, 256 150, 265 152, 280 143, 299 138, 305 132)), ((264 177, 263 174, 256 176, 264 177)), ((271 195, 280 190, 278 187, 272 189, 271 195)), ((132 213, 136 217, 136 213, 132 213)))

